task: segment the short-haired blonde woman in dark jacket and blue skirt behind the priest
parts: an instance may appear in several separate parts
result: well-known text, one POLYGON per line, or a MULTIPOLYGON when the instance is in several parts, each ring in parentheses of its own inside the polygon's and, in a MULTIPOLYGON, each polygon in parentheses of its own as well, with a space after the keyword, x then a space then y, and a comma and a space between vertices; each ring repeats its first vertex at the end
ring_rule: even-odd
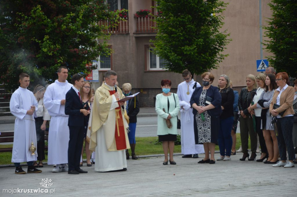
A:
MULTIPOLYGON (((125 96, 132 95, 131 93, 132 86, 129 83, 124 83, 122 85, 123 94, 125 96)), ((136 130, 136 123, 137 123, 137 114, 139 112, 139 101, 138 98, 135 96, 134 98, 126 101, 126 111, 127 115, 129 116, 129 143, 131 147, 131 156, 132 159, 138 159, 135 155, 135 130, 136 130)), ((129 151, 126 150, 126 158, 129 159, 129 151)))

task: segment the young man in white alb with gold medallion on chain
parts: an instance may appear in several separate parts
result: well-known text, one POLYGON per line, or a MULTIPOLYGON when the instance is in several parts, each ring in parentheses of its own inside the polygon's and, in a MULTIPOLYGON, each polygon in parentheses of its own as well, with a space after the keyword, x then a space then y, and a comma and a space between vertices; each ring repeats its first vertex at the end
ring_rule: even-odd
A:
POLYGON ((194 117, 190 99, 194 90, 201 85, 192 79, 191 72, 185 69, 182 72, 184 82, 178 84, 177 95, 181 106, 181 153, 182 158, 198 158, 198 153, 204 153, 202 144, 195 144, 194 117))

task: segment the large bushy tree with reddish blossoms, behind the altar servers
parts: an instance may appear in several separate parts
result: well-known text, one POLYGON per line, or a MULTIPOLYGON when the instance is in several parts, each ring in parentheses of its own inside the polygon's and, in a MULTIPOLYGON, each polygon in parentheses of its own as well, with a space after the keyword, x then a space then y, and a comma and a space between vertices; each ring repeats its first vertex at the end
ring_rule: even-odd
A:
POLYGON ((21 72, 32 86, 53 82, 59 66, 69 68, 69 78, 89 73, 88 63, 111 52, 108 26, 98 22, 119 20, 104 0, 2 0, 0 13, 1 83, 8 90, 18 87, 21 72))

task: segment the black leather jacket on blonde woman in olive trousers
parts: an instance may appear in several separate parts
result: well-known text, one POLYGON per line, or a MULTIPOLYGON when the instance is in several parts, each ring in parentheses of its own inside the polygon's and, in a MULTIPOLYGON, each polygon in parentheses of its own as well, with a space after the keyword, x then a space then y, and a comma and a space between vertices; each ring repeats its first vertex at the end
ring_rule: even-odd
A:
POLYGON ((249 111, 247 108, 251 104, 257 89, 253 89, 252 91, 247 91, 247 88, 242 88, 240 91, 240 95, 238 97, 238 108, 239 111, 243 111, 245 115, 249 115, 249 111))

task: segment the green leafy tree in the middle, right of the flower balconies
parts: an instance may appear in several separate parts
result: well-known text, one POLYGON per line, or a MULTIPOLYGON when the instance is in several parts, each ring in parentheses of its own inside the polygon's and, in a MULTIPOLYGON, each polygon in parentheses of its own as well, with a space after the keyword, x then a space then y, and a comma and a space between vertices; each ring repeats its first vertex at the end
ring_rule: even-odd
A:
POLYGON ((221 31, 220 15, 226 3, 219 0, 158 0, 158 33, 151 40, 156 54, 168 61, 169 71, 189 69, 201 74, 216 69, 228 54, 222 54, 230 42, 221 31))

